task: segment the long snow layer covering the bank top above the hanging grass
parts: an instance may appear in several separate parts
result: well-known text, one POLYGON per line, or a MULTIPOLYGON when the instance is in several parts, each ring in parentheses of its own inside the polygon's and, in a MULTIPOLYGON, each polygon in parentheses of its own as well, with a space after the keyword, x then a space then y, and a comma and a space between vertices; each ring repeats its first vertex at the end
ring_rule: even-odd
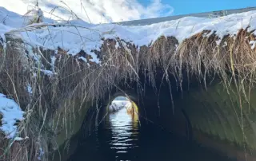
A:
MULTIPOLYGON (((119 26, 116 24, 89 25, 82 20, 74 20, 70 23, 55 22, 45 18, 43 23, 22 26, 22 17, 0 7, 0 35, 3 33, 19 33, 24 41, 30 45, 43 46, 46 49, 57 50, 58 47, 71 55, 76 55, 84 50, 92 59, 90 61, 101 63, 94 50, 100 50, 103 39, 120 38, 126 42, 132 42, 138 48, 142 45, 151 45, 158 37, 176 37, 181 43, 203 30, 215 32, 220 40, 230 34, 234 36, 239 29, 249 31, 256 29, 256 11, 241 14, 230 14, 222 18, 195 18, 186 17, 169 22, 160 22, 150 26, 119 26), (5 23, 2 19, 6 18, 5 23), (21 29, 22 27, 22 29, 21 29)), ((209 36, 211 33, 207 34, 209 36)), ((256 31, 254 31, 256 34, 256 31)), ((219 44, 220 40, 217 41, 219 44)), ((119 44, 115 47, 118 48, 119 44)), ((252 44, 254 47, 254 43, 252 44)), ((82 57, 80 59, 84 60, 82 57)), ((46 72, 48 73, 48 72, 46 72)))

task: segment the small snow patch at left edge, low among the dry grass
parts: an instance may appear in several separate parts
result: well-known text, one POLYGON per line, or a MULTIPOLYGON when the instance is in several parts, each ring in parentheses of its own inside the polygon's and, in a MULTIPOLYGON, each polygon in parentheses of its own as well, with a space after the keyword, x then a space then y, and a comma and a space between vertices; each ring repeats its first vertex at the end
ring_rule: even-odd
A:
POLYGON ((14 138, 17 135, 17 120, 23 120, 22 109, 14 102, 0 93, 0 115, 2 116, 2 126, 0 130, 6 134, 7 138, 14 138))

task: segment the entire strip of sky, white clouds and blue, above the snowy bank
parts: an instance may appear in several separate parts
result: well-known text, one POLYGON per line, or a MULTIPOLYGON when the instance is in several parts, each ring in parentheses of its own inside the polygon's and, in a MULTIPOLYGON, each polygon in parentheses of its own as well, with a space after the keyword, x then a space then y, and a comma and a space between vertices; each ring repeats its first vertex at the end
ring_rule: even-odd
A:
MULTIPOLYGON (((0 0, 1 1, 1 0, 0 0)), ((3 0, 2 0, 3 1, 3 0)), ((192 14, 214 10, 238 9, 256 6, 256 0, 63 0, 75 11, 79 18, 91 23, 123 22, 142 18, 192 14), (81 2, 85 6, 82 10, 81 2), (174 12, 172 12, 174 10, 174 12), (169 11, 169 12, 168 12, 169 11), (87 16, 88 15, 88 16, 87 16)), ((9 0, 0 2, 7 10, 24 15, 35 0, 9 0), (30 6, 28 6, 30 4, 30 6)), ((66 7, 60 0, 39 0, 39 6, 46 17, 54 6, 66 7)), ((62 19, 70 19, 70 12, 55 9, 54 14, 62 19)))

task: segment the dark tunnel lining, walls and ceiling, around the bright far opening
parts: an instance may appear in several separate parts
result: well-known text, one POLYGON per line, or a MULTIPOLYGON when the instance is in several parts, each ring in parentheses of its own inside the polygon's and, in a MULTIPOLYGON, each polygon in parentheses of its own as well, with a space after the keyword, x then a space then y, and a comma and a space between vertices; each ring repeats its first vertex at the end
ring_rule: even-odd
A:
MULTIPOLYGON (((107 107, 114 98, 125 96, 138 106, 141 128, 149 124, 152 128, 154 124, 154 127, 171 133, 172 139, 177 137, 182 142, 195 143, 228 159, 255 159, 254 128, 250 124, 250 116, 243 122, 245 127, 248 126, 244 131, 238 114, 238 98, 230 96, 222 81, 215 77, 198 80, 184 74, 181 85, 178 83, 181 81, 173 76, 166 77, 159 71, 154 75, 154 82, 141 73, 139 83, 125 81, 118 84, 98 104, 92 105, 83 121, 78 143, 84 144, 83 140, 90 138, 94 132, 98 139, 102 138, 100 135, 105 134, 101 134, 98 128, 106 124, 107 107)), ((98 142, 101 142, 100 139, 98 142)), ((171 148, 166 147, 166 151, 168 149, 171 148)))

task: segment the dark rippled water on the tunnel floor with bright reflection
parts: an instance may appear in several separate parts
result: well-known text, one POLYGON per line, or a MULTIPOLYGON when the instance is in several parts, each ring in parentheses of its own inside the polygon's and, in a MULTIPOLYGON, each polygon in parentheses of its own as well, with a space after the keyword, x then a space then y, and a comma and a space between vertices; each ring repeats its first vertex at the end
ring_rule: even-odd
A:
POLYGON ((224 156, 138 121, 126 109, 110 114, 70 161, 226 161, 224 156), (141 126, 140 126, 141 125, 141 126))

